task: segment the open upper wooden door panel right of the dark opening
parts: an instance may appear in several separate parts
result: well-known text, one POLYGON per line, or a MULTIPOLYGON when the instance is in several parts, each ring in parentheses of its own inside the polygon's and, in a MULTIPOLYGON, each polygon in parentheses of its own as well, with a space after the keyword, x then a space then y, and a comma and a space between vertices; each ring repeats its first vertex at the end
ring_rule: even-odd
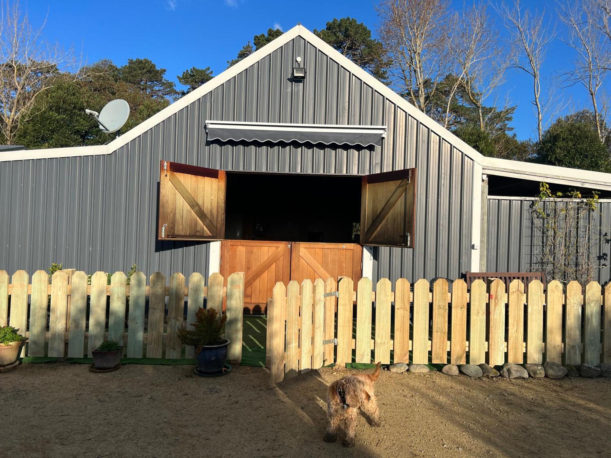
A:
POLYGON ((414 247, 416 169, 362 178, 360 244, 414 247))

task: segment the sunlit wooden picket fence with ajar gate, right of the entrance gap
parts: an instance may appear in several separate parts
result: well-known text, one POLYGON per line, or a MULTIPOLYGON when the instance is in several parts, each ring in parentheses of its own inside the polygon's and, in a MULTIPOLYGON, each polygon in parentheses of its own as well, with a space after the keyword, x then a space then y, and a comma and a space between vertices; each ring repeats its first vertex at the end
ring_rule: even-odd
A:
POLYGON ((426 280, 413 291, 342 278, 276 283, 268 310, 271 383, 331 363, 611 363, 611 283, 426 280), (356 302, 356 307, 354 303, 356 302), (373 307, 375 304, 375 307, 373 307), (356 311, 356 317, 354 312, 356 311), (375 314, 375 315, 374 315, 375 314), (354 325, 356 321, 356 326, 354 325), (372 332, 372 322, 375 323, 372 332), (392 333, 391 333, 392 332, 392 333), (373 337, 372 337, 373 335, 373 337), (335 346, 335 357, 334 357, 335 346), (372 357, 373 351, 373 357, 372 357))

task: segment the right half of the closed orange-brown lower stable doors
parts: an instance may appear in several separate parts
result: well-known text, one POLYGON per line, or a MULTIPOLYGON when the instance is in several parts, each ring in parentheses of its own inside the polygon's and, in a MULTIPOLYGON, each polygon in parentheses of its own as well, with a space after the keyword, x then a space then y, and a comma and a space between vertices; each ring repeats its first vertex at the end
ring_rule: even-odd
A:
POLYGON ((357 244, 293 242, 291 280, 301 283, 309 278, 324 281, 331 277, 350 277, 354 287, 360 280, 363 249, 357 244))

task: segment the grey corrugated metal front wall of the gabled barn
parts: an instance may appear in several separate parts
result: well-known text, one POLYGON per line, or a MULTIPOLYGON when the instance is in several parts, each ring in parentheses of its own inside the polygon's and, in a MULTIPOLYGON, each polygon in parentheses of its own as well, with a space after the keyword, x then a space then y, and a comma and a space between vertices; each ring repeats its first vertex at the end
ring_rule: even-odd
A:
MULTIPOLYGON (((431 121, 432 122, 432 121, 431 121)), ((224 170, 367 174, 417 167, 415 249, 376 248, 373 280, 470 267, 473 163, 297 37, 115 153, 2 162, 0 269, 208 271, 208 244, 157 242, 159 160, 224 170), (307 68, 291 82, 295 57, 307 68), (387 125, 382 147, 207 144, 205 120, 387 125)))

